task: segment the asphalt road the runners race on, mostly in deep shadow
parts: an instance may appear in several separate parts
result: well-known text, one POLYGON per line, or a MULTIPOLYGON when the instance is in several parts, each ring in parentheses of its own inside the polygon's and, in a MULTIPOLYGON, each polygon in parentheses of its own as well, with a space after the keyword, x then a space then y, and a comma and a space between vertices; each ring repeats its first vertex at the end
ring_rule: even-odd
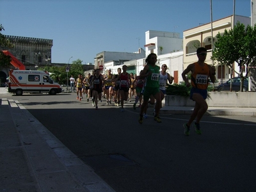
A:
POLYGON ((161 124, 151 115, 141 125, 129 102, 122 113, 106 100, 95 110, 75 93, 10 97, 116 191, 256 189, 253 116, 204 116, 202 135, 184 136, 188 115, 161 115, 161 124))

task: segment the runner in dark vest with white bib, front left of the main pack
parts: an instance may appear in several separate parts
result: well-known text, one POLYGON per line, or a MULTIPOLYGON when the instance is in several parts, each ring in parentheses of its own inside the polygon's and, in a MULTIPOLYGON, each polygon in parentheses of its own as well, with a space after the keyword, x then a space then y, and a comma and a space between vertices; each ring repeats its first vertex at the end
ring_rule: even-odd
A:
POLYGON ((92 95, 93 95, 93 104, 94 107, 95 103, 95 109, 98 109, 98 99, 101 99, 102 94, 102 88, 105 84, 104 77, 100 74, 100 69, 97 68, 95 70, 95 76, 92 77, 92 81, 90 83, 90 87, 92 87, 92 95))

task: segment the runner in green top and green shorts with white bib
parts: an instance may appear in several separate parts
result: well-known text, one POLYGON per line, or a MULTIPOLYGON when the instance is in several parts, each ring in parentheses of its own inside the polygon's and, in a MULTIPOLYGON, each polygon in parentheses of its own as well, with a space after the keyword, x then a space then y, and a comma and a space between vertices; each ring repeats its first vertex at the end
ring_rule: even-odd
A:
POLYGON ((160 67, 156 65, 157 56, 155 53, 150 53, 147 56, 145 67, 143 68, 143 71, 141 72, 140 76, 141 78, 147 77, 147 81, 145 83, 145 89, 143 92, 143 103, 141 105, 140 109, 140 118, 139 123, 143 123, 143 111, 147 107, 148 100, 151 95, 154 96, 154 99, 156 99, 156 115, 154 116, 154 120, 156 120, 157 123, 161 123, 161 118, 159 117, 159 111, 161 106, 161 94, 159 90, 159 69, 160 67))

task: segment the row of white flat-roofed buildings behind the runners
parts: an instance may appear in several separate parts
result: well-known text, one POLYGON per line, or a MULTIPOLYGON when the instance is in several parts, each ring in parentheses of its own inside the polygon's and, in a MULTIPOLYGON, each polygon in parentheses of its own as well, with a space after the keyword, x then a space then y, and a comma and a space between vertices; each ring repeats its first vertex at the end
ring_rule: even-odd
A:
POLYGON ((139 49, 138 53, 123 53, 123 52, 100 52, 95 57, 95 66, 102 65, 102 72, 111 69, 113 74, 117 74, 117 69, 127 65, 127 72, 140 74, 145 66, 145 60, 151 52, 157 54, 157 65, 166 64, 167 72, 175 79, 174 83, 182 81, 181 73, 183 71, 183 51, 182 38, 179 38, 179 33, 164 32, 164 31, 146 31, 144 46, 146 51, 139 49), (160 49, 161 48, 161 49, 160 49), (142 56, 144 51, 145 56, 142 56), (176 52, 175 52, 176 51, 176 52), (125 55, 125 56, 124 56, 125 55), (132 58, 133 57, 133 58, 132 58))

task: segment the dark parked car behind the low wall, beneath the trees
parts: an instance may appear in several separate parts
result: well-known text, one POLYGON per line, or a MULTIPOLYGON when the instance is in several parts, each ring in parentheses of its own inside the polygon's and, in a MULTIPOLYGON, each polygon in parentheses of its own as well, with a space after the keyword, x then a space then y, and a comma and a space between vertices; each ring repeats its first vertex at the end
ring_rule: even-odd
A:
MULTIPOLYGON (((241 78, 234 77, 232 78, 232 91, 240 91, 241 78)), ((229 91, 230 90, 230 79, 226 83, 220 84, 217 88, 220 91, 229 91)), ((248 77, 244 79, 243 92, 248 91, 248 77)))

